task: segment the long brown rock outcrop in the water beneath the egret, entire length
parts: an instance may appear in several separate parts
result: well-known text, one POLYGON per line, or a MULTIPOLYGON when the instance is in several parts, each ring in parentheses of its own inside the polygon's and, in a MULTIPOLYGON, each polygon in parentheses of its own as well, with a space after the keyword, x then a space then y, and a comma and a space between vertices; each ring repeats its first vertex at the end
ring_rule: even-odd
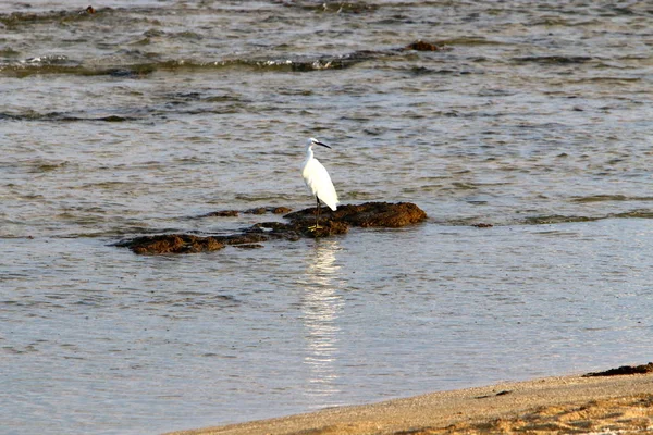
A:
MULTIPOLYGON (((247 210, 245 213, 282 213, 289 210, 283 207, 260 208, 247 210)), ((237 211, 226 210, 200 217, 236 215, 238 215, 237 211)), ((270 239, 299 240, 305 237, 319 238, 346 234, 349 226, 397 228, 424 221, 427 213, 410 202, 366 202, 359 206, 340 206, 336 211, 322 208, 318 228, 312 227, 316 224, 315 207, 285 214, 284 217, 289 222, 262 222, 231 235, 161 234, 138 236, 119 241, 115 246, 130 248, 140 254, 207 252, 223 249, 227 245, 238 248, 261 248, 261 243, 270 239)))

